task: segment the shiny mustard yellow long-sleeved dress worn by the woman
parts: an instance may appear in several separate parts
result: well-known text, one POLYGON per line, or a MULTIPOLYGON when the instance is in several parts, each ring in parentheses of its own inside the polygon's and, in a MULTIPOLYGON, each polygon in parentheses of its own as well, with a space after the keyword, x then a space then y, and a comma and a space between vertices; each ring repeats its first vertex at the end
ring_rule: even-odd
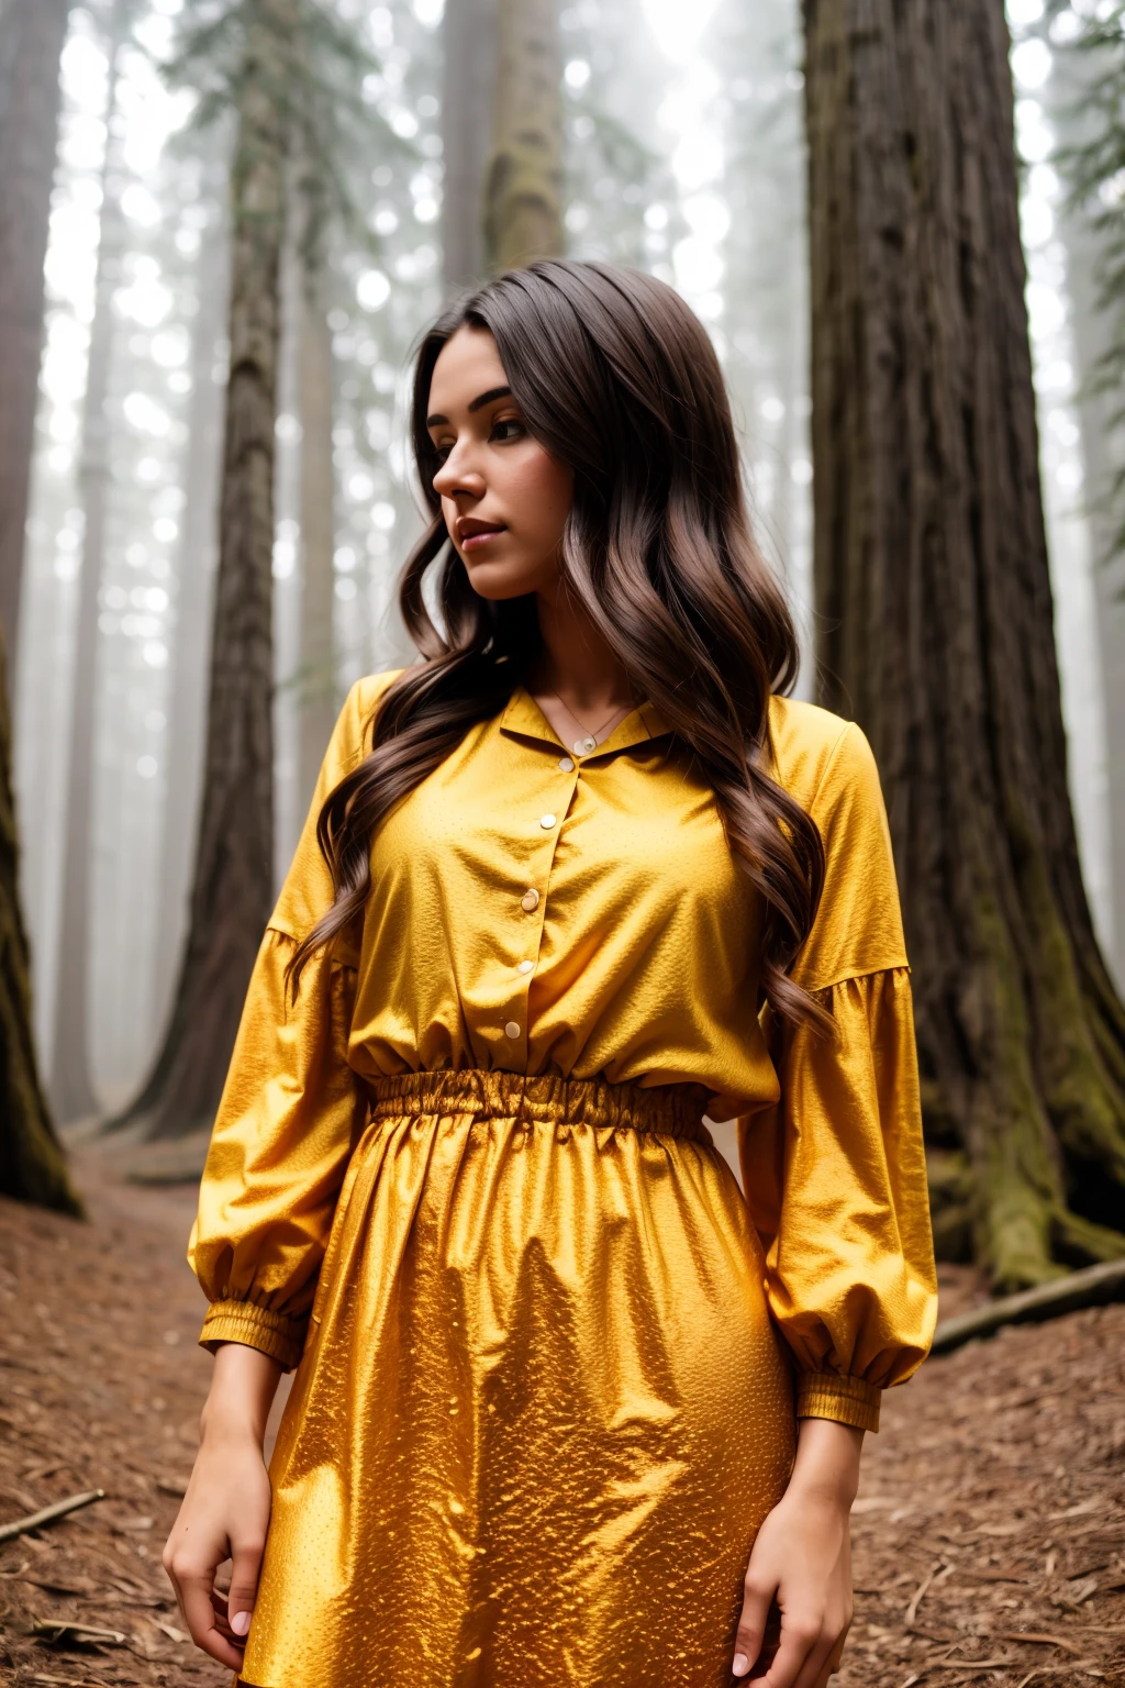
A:
POLYGON ((877 1428, 934 1322, 870 749, 771 704, 835 1041, 759 1023, 757 893, 658 712, 579 756, 523 689, 379 829, 363 930, 292 1008, 315 815, 391 679, 332 736, 191 1241, 201 1340, 297 1367, 243 1680, 719 1688, 794 1416, 877 1428))

